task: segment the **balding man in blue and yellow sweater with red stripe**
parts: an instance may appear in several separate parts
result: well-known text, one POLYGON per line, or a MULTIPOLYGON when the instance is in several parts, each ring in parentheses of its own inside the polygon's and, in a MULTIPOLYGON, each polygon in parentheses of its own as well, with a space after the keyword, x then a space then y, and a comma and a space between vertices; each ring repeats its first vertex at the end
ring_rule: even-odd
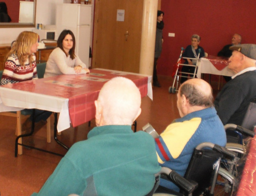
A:
MULTIPOLYGON (((159 138, 155 139, 158 162, 184 176, 193 150, 198 144, 211 142, 225 146, 224 126, 213 107, 212 88, 204 80, 185 81, 177 93, 177 108, 181 118, 175 119, 159 138)), ((166 179, 160 179, 157 192, 179 188, 166 179)))

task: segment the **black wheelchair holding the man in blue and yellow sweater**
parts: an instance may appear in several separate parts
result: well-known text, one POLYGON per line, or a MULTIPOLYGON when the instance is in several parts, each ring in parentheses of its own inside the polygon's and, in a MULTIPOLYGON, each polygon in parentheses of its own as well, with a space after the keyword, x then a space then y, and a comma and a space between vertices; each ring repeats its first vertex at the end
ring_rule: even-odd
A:
MULTIPOLYGON (((171 182, 180 187, 180 192, 161 187, 157 189, 153 196, 213 196, 223 192, 233 193, 234 176, 227 170, 220 168, 221 159, 224 157, 232 160, 236 157, 236 154, 209 142, 199 144, 194 149, 183 179, 182 176, 172 179, 170 177, 171 172, 165 173, 171 182), (183 182, 183 184, 180 182, 183 182), (218 185, 218 189, 216 189, 216 185, 218 185)), ((164 178, 163 175, 161 177, 164 178)))

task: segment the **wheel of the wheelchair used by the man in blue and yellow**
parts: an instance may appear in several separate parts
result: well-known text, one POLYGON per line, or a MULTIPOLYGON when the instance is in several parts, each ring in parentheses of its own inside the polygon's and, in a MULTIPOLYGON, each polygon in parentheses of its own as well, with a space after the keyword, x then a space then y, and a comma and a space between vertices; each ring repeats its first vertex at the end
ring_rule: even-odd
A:
POLYGON ((235 177, 227 170, 219 168, 218 178, 214 189, 214 196, 232 196, 236 185, 235 177))

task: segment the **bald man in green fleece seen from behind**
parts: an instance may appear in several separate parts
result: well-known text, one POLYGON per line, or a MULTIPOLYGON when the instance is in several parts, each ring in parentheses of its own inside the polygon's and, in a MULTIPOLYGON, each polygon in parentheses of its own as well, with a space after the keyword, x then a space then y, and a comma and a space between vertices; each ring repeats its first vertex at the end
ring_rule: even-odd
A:
POLYGON ((87 140, 74 144, 38 196, 145 196, 160 171, 154 139, 133 133, 141 95, 129 79, 108 81, 95 101, 96 125, 87 140))

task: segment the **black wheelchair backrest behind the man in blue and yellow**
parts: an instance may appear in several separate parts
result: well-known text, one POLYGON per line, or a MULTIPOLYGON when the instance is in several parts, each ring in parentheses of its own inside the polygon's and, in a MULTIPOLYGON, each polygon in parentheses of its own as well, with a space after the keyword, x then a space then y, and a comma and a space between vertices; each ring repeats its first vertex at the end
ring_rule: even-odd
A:
POLYGON ((194 195, 201 195, 212 185, 212 178, 222 154, 215 150, 197 150, 195 149, 190 159, 189 166, 185 173, 185 179, 198 183, 198 188, 193 192, 194 195))

